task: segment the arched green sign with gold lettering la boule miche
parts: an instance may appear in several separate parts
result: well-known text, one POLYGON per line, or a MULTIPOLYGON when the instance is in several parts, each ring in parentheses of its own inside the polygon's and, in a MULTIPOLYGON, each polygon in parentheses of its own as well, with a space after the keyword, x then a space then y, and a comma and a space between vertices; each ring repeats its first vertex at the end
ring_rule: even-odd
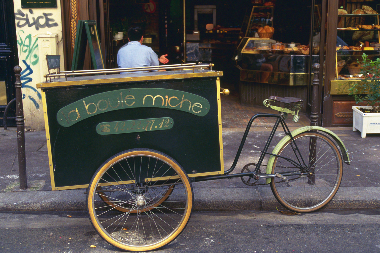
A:
POLYGON ((57 121, 61 126, 68 127, 100 113, 138 107, 167 108, 204 116, 209 112, 210 104, 204 97, 184 91, 123 89, 98 93, 73 102, 59 110, 57 121))

